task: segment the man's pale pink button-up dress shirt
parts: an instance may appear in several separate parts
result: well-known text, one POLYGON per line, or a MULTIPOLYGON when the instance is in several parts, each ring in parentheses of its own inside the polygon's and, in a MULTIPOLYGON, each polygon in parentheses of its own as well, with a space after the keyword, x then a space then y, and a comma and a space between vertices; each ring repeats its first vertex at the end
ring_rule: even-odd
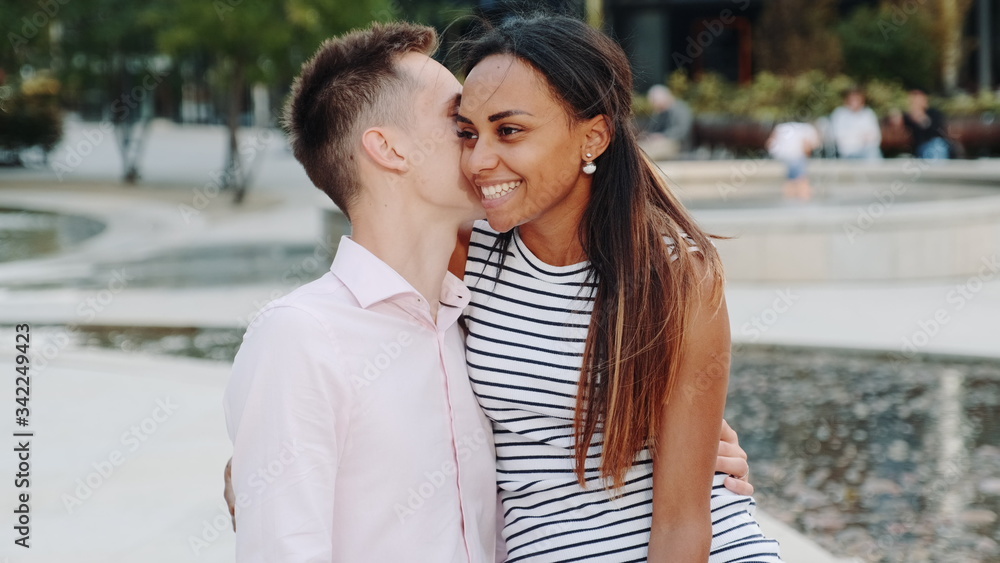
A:
POLYGON ((492 562, 493 437, 469 385, 451 274, 437 322, 348 237, 266 306, 225 393, 240 563, 492 562))

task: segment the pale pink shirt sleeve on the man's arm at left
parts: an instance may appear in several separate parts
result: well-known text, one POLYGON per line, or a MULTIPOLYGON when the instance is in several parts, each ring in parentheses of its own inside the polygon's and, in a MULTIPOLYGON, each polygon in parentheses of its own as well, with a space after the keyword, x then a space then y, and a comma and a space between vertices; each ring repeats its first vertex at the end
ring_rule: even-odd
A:
POLYGON ((236 561, 333 560, 337 463, 351 390, 323 323, 289 306, 250 325, 225 394, 236 561))

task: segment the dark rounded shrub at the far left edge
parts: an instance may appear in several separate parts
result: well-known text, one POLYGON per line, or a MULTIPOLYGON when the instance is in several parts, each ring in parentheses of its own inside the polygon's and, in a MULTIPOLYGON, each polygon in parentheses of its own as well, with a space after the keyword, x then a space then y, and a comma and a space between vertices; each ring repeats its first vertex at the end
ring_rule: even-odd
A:
POLYGON ((42 147, 51 151, 62 138, 59 82, 47 75, 25 80, 0 93, 0 148, 42 147))

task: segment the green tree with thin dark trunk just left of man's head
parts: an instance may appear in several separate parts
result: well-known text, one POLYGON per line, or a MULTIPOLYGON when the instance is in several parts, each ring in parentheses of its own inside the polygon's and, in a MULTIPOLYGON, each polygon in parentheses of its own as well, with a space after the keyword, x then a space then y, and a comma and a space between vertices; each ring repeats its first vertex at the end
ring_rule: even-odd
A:
POLYGON ((248 84, 289 79, 326 38, 373 20, 393 18, 391 0, 159 0, 148 21, 173 55, 207 56, 225 89, 227 156, 222 184, 234 201, 246 195, 248 174, 238 130, 248 84))

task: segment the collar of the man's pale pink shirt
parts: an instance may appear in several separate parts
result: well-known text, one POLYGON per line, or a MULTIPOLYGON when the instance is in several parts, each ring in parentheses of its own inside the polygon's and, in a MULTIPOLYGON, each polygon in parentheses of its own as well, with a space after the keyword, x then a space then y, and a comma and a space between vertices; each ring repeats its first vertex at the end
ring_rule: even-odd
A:
MULTIPOLYGON (((399 295, 420 297, 399 272, 346 235, 340 238, 330 271, 366 309, 399 295)), ((469 304, 469 296, 469 288, 460 279, 451 273, 445 274, 439 296, 441 304, 463 309, 469 304)))

